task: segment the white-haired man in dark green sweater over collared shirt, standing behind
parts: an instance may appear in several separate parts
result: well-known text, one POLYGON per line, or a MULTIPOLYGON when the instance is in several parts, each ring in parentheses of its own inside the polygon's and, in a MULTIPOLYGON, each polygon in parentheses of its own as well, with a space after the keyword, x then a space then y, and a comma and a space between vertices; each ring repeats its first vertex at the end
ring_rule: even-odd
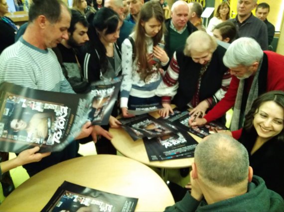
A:
POLYGON ((197 30, 188 21, 189 8, 183 0, 175 1, 171 6, 171 18, 165 21, 165 52, 171 58, 178 48, 183 48, 186 38, 197 30))

